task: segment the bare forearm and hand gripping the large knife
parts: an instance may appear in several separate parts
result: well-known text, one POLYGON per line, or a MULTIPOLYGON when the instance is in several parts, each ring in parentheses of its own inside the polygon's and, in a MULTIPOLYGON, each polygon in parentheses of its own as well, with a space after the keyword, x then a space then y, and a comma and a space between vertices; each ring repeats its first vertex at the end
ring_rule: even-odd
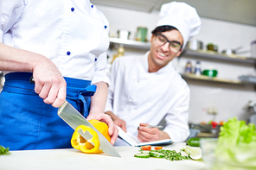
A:
POLYGON ((41 54, 0 43, 0 69, 33 72, 35 92, 46 104, 59 107, 66 99, 66 81, 51 60, 41 54))

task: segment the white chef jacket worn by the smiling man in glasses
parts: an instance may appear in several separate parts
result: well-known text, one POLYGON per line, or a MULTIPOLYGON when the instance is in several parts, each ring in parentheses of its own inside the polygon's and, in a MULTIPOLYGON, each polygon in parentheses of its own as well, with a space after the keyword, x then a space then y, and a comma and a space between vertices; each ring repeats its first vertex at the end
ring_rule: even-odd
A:
POLYGON ((189 86, 171 63, 148 72, 148 54, 114 60, 106 111, 125 120, 127 131, 136 136, 139 123, 157 125, 165 117, 163 131, 172 142, 184 142, 189 136, 189 86))

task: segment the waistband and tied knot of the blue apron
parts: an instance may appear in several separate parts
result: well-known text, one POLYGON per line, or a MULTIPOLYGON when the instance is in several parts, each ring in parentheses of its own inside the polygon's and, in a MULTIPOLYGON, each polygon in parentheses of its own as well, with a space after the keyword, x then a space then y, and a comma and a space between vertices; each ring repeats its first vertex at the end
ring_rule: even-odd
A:
MULTIPOLYGON (((35 93, 35 84, 30 83, 32 72, 10 72, 5 75, 3 90, 22 94, 35 93)), ((88 115, 91 97, 96 91, 96 85, 91 85, 91 81, 84 79, 73 79, 64 77, 67 83, 67 99, 76 101, 78 110, 83 116, 88 115)))

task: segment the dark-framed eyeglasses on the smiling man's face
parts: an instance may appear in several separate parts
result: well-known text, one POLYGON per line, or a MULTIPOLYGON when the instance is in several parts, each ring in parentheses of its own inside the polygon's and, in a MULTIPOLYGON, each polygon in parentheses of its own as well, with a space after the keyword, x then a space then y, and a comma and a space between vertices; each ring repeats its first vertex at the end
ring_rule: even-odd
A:
POLYGON ((177 53, 180 51, 180 49, 182 48, 182 45, 180 42, 178 41, 169 41, 164 35, 161 34, 155 34, 155 41, 157 42, 158 45, 163 46, 166 42, 169 42, 169 48, 170 51, 177 53))

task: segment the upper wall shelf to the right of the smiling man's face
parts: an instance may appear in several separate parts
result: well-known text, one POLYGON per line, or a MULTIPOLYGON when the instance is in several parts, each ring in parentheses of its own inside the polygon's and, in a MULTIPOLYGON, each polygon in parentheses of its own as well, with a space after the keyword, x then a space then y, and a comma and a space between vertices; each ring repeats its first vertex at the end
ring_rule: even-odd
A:
POLYGON ((190 50, 185 49, 182 55, 186 56, 193 56, 198 58, 204 58, 204 59, 213 59, 213 60, 226 60, 226 61, 236 61, 240 63, 247 63, 247 64, 255 64, 256 59, 248 58, 236 54, 227 55, 227 54, 219 54, 214 51, 208 51, 208 50, 190 50))

